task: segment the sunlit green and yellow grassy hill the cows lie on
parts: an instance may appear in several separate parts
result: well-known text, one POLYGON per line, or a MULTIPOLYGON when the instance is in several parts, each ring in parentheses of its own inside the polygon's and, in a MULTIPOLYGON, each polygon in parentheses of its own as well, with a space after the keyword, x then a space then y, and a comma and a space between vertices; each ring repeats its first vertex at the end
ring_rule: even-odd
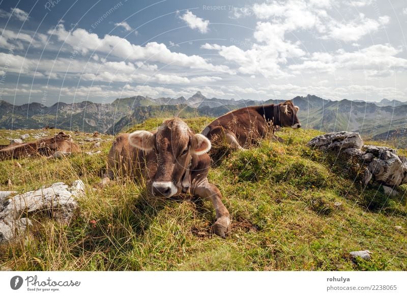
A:
MULTIPOLYGON (((187 123, 199 132, 211 120, 199 117, 187 123)), ((150 119, 131 130, 161 123, 150 119)), ((13 137, 19 133, 38 131, 14 131, 13 137)), ((22 159, 21 168, 15 161, 0 162, 0 190, 24 192, 76 179, 87 187, 69 226, 36 213, 25 242, 0 246, 0 268, 407 270, 407 187, 391 198, 382 188, 363 190, 358 171, 345 160, 305 145, 318 134, 283 129, 278 136, 284 143, 263 140, 249 151, 230 153, 210 170, 209 179, 219 187, 231 214, 232 231, 226 240, 212 234, 215 212, 209 201, 149 197, 126 180, 93 189, 112 136, 101 136, 101 147, 93 150, 102 153, 96 155, 22 159), (347 256, 365 249, 373 252, 372 260, 347 256)), ((9 136, 10 131, 0 131, 0 138, 9 136)), ((72 136, 83 152, 92 150, 83 140, 89 134, 72 136)), ((407 155, 405 150, 398 153, 407 155)))

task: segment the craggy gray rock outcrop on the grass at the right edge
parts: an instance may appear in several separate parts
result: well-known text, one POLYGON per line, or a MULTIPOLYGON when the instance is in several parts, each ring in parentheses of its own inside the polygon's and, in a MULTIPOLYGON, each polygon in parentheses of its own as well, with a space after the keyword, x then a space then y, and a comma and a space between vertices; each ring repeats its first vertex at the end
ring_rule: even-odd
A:
POLYGON ((391 188, 407 183, 407 160, 399 157, 396 151, 389 147, 363 145, 359 133, 325 134, 313 138, 307 145, 357 160, 361 166, 364 166, 365 186, 371 180, 391 188))

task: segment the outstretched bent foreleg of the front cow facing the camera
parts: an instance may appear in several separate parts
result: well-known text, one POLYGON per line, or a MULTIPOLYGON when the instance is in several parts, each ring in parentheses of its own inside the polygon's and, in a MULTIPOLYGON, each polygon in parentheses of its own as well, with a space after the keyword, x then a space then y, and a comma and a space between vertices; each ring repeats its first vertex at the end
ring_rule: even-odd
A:
POLYGON ((214 225, 215 234, 224 239, 226 234, 230 232, 230 215, 221 200, 222 194, 219 189, 206 181, 195 188, 194 195, 208 198, 212 201, 216 213, 216 222, 214 225))

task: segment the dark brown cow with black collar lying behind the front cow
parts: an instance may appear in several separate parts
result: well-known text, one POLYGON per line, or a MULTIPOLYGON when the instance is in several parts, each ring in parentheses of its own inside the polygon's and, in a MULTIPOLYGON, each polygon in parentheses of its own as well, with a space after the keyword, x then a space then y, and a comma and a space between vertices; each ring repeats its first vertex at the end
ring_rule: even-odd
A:
POLYGON ((218 117, 201 134, 211 141, 225 141, 232 147, 243 150, 252 139, 264 137, 270 123, 274 127, 300 128, 301 123, 297 117, 299 109, 292 101, 278 105, 244 107, 218 117))

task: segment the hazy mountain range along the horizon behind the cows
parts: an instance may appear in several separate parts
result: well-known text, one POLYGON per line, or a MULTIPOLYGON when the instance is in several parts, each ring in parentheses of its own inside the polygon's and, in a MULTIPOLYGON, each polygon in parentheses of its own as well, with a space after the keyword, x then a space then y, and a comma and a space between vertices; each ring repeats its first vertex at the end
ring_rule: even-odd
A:
MULTIPOLYGON (((331 101, 314 95, 292 99, 300 107, 304 128, 333 132, 356 131, 373 139, 407 137, 407 102, 383 99, 381 102, 331 101)), ((116 134, 149 117, 219 116, 244 106, 280 103, 284 100, 235 100, 206 98, 200 92, 186 99, 135 96, 112 103, 39 103, 15 106, 0 101, 1 129, 40 129, 45 126, 84 132, 116 134)))

